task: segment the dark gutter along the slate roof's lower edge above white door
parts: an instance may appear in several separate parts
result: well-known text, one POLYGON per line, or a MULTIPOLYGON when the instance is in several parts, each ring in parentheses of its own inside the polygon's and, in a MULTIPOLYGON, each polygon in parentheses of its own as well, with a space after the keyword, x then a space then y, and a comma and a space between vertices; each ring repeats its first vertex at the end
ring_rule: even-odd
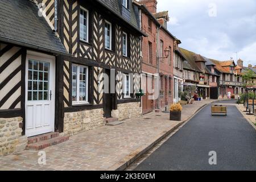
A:
POLYGON ((72 56, 68 52, 57 51, 55 49, 49 49, 47 47, 38 46, 38 45, 27 43, 27 42, 22 42, 20 40, 11 39, 11 38, 7 38, 7 37, 4 37, 4 36, 0 36, 0 42, 7 42, 7 43, 11 43, 11 44, 16 44, 17 46, 28 47, 28 48, 36 49, 36 50, 39 50, 39 51, 52 53, 54 55, 72 56))

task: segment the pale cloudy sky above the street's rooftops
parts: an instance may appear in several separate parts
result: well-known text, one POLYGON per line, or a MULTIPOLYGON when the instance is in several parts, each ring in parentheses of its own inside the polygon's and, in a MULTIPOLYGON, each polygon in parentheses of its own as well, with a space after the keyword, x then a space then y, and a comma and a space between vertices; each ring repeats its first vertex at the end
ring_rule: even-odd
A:
POLYGON ((158 0, 163 10, 180 47, 217 60, 238 54, 245 66, 256 65, 255 0, 158 0))

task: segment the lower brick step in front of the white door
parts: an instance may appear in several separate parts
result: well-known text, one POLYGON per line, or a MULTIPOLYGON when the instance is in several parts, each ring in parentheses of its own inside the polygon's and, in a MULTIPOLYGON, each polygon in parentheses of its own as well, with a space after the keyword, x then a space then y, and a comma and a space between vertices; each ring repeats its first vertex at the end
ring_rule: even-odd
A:
POLYGON ((43 148, 54 146, 59 143, 63 143, 69 140, 69 137, 54 137, 48 140, 43 140, 37 143, 28 144, 26 149, 27 150, 42 150, 43 148))

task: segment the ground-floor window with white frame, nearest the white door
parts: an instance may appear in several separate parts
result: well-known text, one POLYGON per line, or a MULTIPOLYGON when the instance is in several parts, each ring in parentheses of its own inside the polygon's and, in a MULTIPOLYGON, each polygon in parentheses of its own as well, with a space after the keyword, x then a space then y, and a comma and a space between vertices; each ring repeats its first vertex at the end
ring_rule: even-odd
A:
POLYGON ((72 102, 88 104, 88 67, 72 65, 72 102))

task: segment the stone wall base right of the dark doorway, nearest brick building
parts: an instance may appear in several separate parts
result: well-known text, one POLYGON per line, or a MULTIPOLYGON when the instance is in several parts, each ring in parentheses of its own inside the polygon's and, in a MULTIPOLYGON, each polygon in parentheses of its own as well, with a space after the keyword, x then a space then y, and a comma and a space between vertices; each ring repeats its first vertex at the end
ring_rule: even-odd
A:
POLYGON ((119 121, 123 121, 124 119, 139 118, 141 115, 141 102, 118 104, 117 110, 112 110, 112 117, 118 118, 119 121))

